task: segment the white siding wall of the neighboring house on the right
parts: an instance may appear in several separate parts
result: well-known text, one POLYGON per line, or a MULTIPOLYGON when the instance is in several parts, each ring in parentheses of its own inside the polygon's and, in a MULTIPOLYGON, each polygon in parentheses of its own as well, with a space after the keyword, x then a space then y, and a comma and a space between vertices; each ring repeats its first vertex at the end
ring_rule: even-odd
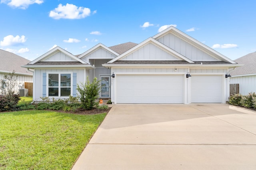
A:
POLYGON ((239 84, 239 93, 247 95, 256 92, 256 75, 230 77, 230 84, 239 84))

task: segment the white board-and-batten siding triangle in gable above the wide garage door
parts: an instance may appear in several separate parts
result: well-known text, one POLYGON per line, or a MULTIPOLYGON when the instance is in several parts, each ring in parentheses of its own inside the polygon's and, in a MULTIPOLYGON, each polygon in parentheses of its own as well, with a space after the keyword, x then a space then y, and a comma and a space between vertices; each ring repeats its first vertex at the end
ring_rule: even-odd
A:
POLYGON ((165 50, 160 49, 156 45, 152 43, 148 43, 147 45, 141 47, 140 49, 134 51, 127 57, 124 57, 120 60, 181 60, 173 55, 167 53, 165 50))

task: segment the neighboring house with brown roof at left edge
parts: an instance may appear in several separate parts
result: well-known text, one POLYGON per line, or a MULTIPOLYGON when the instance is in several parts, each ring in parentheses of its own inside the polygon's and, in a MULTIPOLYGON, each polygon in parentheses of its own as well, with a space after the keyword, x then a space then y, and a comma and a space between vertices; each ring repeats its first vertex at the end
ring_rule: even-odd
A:
POLYGON ((27 64, 30 62, 29 60, 0 49, 0 61, 0 80, 4 79, 4 74, 9 74, 15 71, 15 76, 17 76, 17 86, 14 89, 14 93, 17 94, 19 93, 19 89, 24 89, 26 83, 33 82, 33 73, 28 72, 26 68, 20 66, 20 64, 27 64))

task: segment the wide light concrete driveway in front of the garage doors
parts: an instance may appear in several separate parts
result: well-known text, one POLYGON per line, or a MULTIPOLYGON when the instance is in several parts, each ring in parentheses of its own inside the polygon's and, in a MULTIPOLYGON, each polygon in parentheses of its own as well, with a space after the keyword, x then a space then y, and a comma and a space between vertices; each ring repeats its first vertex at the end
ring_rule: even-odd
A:
POLYGON ((228 104, 116 104, 72 170, 256 169, 256 112, 228 104))

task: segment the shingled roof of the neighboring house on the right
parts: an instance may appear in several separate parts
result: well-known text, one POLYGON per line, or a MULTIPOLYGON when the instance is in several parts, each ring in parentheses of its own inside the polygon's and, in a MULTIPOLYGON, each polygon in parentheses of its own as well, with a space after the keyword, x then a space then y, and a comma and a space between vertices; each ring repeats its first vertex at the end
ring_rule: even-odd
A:
POLYGON ((230 71, 231 76, 256 74, 256 52, 247 54, 234 61, 238 64, 244 64, 244 66, 230 71))

